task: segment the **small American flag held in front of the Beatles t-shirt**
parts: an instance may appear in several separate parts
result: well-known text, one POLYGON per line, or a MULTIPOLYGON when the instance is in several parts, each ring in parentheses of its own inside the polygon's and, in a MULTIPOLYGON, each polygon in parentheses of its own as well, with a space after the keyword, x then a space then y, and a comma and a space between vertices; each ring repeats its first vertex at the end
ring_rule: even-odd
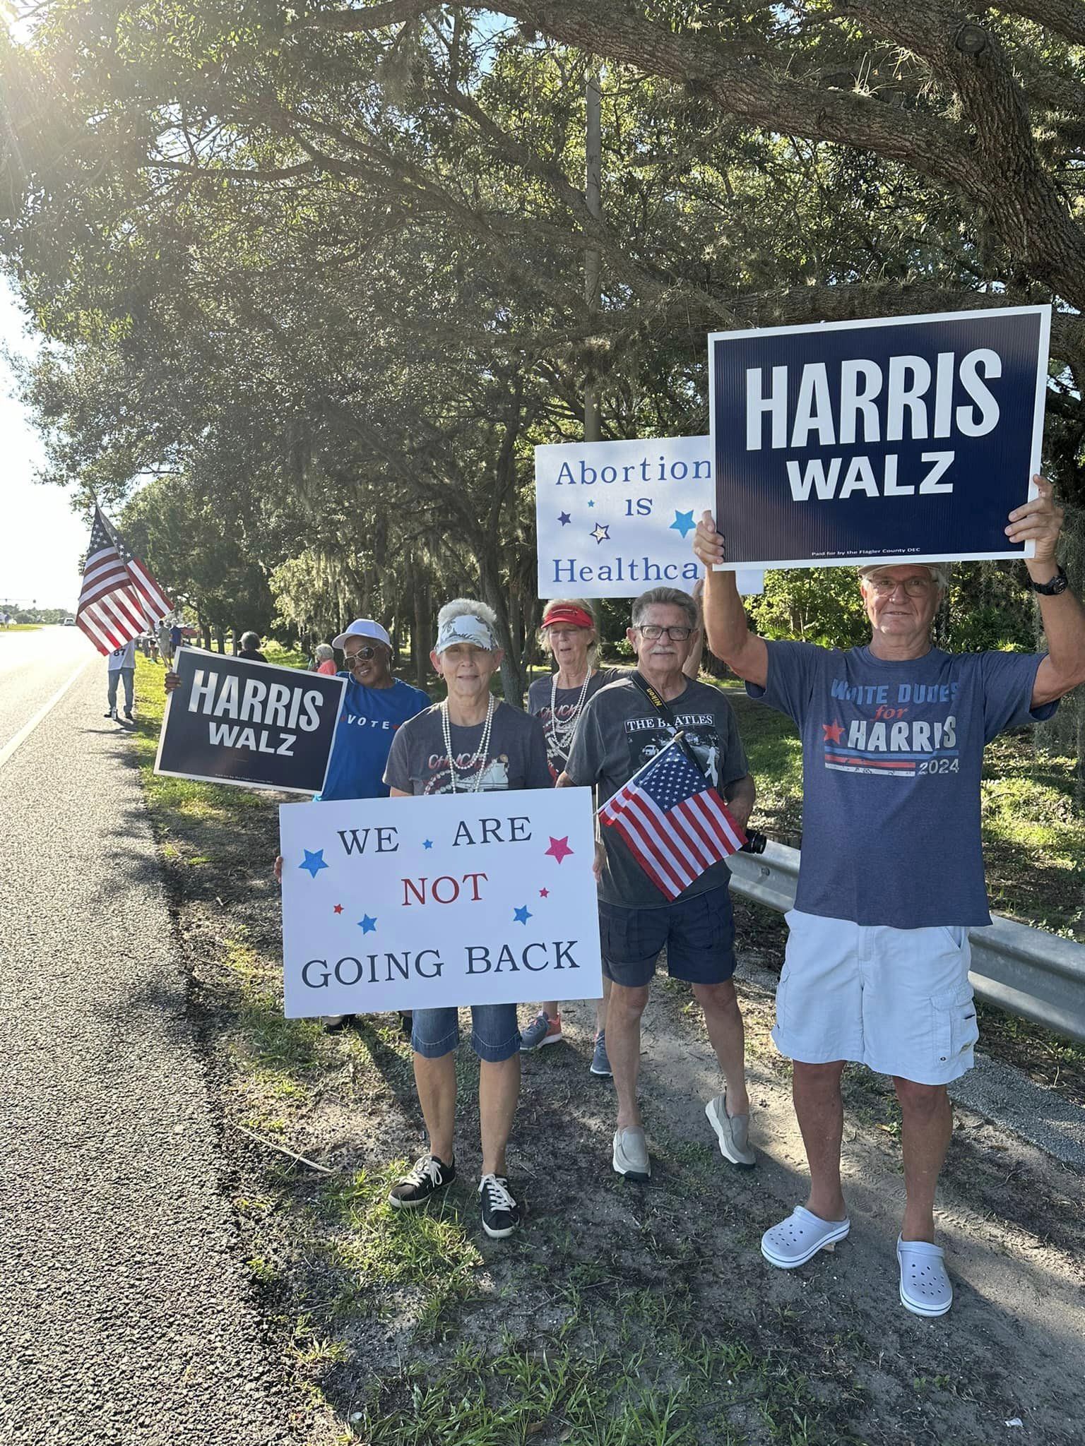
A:
POLYGON ((599 821, 618 830, 668 899, 746 842, 720 795, 686 756, 681 735, 608 798, 599 821))

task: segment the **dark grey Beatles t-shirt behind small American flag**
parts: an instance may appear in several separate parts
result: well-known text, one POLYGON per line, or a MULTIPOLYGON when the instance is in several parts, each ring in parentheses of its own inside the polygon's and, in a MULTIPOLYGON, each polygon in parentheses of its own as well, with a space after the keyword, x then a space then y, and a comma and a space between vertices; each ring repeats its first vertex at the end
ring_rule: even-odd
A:
MULTIPOLYGON (((735 713, 719 691, 706 683, 687 683, 686 691, 670 700, 677 727, 709 781, 720 791, 749 772, 735 713)), ((602 688, 584 704, 566 772, 574 784, 597 784, 599 804, 647 763, 674 736, 635 683, 625 680, 602 688)), ((671 902, 644 872, 616 829, 602 829, 606 863, 599 884, 605 904, 624 908, 664 908, 671 902)), ((726 863, 713 863, 694 879, 680 898, 707 894, 728 884, 726 863)))

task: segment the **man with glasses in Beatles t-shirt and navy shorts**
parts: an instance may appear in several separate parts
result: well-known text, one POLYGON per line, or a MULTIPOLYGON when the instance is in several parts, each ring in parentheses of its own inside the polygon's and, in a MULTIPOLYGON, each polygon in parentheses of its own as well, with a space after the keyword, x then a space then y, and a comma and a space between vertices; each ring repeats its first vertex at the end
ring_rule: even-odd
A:
MULTIPOLYGON (((754 807, 754 779, 746 768, 738 724, 723 694, 686 677, 683 665, 700 642, 696 602, 677 587, 654 587, 632 606, 626 638, 637 655, 637 674, 600 688, 584 704, 573 750, 557 781, 599 787, 599 803, 632 778, 681 729, 709 781, 745 827, 754 807), (651 698, 663 701, 660 709, 651 698)), ((742 1014, 735 995, 731 878, 715 863, 674 901, 652 884, 616 829, 603 829, 597 846, 599 930, 603 972, 610 980, 606 1050, 618 1095, 612 1164, 628 1180, 648 1180, 651 1164, 637 1099, 641 1063, 641 1015, 661 950, 667 970, 686 979, 705 1011, 709 1040, 723 1074, 723 1093, 709 1100, 706 1115, 731 1164, 757 1163, 749 1148, 749 1099, 745 1080, 742 1014)))

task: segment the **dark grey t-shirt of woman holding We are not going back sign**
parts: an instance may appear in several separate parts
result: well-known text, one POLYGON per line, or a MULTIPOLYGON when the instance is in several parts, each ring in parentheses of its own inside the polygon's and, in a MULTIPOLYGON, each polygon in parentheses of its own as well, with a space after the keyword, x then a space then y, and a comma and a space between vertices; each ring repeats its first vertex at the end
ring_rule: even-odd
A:
MULTIPOLYGON (((485 726, 459 727, 451 723, 448 727, 457 792, 473 792, 480 771, 479 792, 551 787, 547 745, 538 719, 511 709, 508 703, 498 703, 486 756, 476 759, 485 726)), ((385 782, 405 794, 451 792, 440 704, 399 724, 388 753, 385 782)))

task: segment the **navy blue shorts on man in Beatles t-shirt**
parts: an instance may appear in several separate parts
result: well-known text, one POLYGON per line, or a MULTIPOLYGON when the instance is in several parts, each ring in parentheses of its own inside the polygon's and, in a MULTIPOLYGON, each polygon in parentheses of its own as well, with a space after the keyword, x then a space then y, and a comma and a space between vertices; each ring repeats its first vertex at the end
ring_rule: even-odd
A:
POLYGON ((735 918, 726 888, 663 908, 624 908, 600 901, 599 937, 603 973, 629 989, 648 983, 664 947, 671 979, 722 985, 735 973, 735 918))

